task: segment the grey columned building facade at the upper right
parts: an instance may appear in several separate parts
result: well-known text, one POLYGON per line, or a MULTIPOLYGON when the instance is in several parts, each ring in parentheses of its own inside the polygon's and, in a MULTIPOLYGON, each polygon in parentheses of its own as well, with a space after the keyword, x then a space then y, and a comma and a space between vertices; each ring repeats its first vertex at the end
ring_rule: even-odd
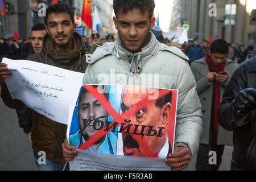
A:
POLYGON ((243 43, 256 44, 255 24, 251 23, 251 11, 256 9, 255 0, 181 0, 172 11, 170 30, 181 27, 185 19, 189 24, 188 37, 209 40, 222 38, 237 45, 243 43), (236 5, 234 24, 225 23, 226 5, 236 5), (180 14, 180 15, 177 15, 180 14), (183 14, 187 14, 183 15, 183 14))

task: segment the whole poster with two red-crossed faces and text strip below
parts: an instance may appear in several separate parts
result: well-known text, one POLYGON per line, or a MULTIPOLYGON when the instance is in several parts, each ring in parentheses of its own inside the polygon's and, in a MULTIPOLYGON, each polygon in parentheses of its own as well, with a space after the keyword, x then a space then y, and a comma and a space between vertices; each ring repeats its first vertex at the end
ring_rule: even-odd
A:
POLYGON ((71 170, 170 170, 177 90, 84 85, 69 113, 71 170), (150 159, 149 159, 150 158, 150 159))

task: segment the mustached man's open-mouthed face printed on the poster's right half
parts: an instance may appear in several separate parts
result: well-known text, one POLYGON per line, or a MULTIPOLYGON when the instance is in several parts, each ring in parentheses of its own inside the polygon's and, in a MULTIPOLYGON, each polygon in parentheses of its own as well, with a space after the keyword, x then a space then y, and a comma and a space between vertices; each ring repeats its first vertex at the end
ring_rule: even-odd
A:
MULTIPOLYGON (((125 91, 122 96, 122 114, 125 113, 127 110, 131 109, 131 107, 138 104, 139 101, 143 100, 144 98, 148 97, 148 89, 145 93, 129 93, 130 86, 125 87, 125 91)), ((166 129, 169 122, 171 113, 171 104, 168 102, 162 108, 155 105, 155 102, 144 106, 140 110, 138 110, 133 116, 127 118, 130 119, 130 123, 132 125, 139 125, 139 129, 141 130, 141 126, 147 126, 144 128, 143 137, 144 140, 148 143, 155 154, 158 155, 164 143, 166 142, 166 129), (146 136, 150 129, 148 126, 154 126, 154 129, 158 130, 159 127, 164 127, 162 130, 162 137, 152 137, 146 136)), ((139 156, 145 157, 146 151, 143 151, 142 148, 139 146, 138 142, 133 139, 133 135, 127 134, 125 131, 122 133, 123 139, 123 154, 126 156, 139 156)))

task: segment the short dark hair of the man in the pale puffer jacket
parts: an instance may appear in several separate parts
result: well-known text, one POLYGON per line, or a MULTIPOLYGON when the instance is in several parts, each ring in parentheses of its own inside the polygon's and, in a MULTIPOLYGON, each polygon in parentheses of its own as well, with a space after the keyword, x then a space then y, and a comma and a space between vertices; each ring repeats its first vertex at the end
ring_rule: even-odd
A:
POLYGON ((138 7, 142 13, 148 11, 149 18, 151 19, 154 9, 155 1, 154 0, 113 0, 113 8, 115 16, 117 13, 122 10, 123 13, 132 10, 134 7, 138 7))

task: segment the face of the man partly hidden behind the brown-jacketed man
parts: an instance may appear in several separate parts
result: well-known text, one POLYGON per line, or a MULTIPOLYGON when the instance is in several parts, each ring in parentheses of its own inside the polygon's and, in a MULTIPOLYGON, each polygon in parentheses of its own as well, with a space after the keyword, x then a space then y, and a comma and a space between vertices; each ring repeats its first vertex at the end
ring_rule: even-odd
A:
POLYGON ((42 50, 44 35, 46 30, 31 31, 31 44, 35 52, 42 50))

